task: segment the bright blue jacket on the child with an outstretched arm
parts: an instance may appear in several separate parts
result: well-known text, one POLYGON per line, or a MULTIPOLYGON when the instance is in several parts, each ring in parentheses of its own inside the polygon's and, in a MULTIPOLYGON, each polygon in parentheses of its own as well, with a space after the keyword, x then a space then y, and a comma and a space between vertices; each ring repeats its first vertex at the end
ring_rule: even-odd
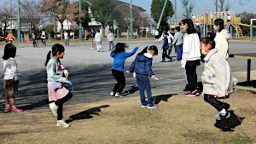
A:
POLYGON ((110 54, 110 56, 112 56, 114 58, 112 69, 124 72, 125 60, 128 57, 130 57, 131 55, 134 55, 136 53, 137 49, 138 48, 136 47, 135 49, 133 49, 133 51, 131 53, 121 52, 118 54, 114 54, 113 50, 112 50, 111 54, 110 54))

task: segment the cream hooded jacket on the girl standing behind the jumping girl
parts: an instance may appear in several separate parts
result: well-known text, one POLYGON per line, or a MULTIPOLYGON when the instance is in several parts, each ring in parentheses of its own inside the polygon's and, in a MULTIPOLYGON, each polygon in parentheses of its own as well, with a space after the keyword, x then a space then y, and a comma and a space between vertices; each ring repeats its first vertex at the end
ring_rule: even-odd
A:
POLYGON ((222 55, 226 60, 229 59, 229 43, 230 33, 228 30, 222 30, 221 32, 217 32, 214 41, 216 43, 216 48, 218 48, 218 54, 222 55))

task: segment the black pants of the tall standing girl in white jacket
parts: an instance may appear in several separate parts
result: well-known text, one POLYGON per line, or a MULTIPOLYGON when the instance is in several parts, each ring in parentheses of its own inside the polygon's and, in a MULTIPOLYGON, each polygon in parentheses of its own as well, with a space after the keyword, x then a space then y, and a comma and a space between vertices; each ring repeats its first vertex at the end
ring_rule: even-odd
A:
POLYGON ((186 74, 189 82, 189 90, 195 91, 197 89, 197 74, 196 66, 200 65, 200 60, 188 60, 185 66, 186 74))

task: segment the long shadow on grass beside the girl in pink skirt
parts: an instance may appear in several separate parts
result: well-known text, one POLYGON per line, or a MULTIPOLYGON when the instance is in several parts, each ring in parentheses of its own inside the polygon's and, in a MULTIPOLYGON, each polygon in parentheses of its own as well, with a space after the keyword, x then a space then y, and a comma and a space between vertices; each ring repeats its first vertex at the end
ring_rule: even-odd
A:
POLYGON ((101 112, 101 108, 106 108, 106 107, 110 107, 110 105, 103 105, 101 107, 94 107, 94 108, 90 108, 89 110, 85 110, 83 112, 79 112, 77 114, 74 114, 74 115, 70 116, 66 120, 66 122, 70 123, 73 120, 93 118, 93 116, 91 116, 92 114, 99 115, 99 113, 97 113, 97 112, 101 112))

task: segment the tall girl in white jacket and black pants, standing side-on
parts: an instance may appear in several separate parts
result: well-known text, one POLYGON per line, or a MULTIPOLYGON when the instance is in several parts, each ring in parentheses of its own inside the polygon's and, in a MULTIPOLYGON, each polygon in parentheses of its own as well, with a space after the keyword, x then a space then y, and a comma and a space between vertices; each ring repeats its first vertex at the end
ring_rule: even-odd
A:
POLYGON ((186 31, 183 39, 183 59, 181 63, 182 66, 186 69, 187 78, 189 81, 189 92, 185 95, 195 96, 199 95, 197 90, 196 66, 200 65, 201 45, 198 34, 191 19, 182 20, 181 26, 183 30, 186 31))

